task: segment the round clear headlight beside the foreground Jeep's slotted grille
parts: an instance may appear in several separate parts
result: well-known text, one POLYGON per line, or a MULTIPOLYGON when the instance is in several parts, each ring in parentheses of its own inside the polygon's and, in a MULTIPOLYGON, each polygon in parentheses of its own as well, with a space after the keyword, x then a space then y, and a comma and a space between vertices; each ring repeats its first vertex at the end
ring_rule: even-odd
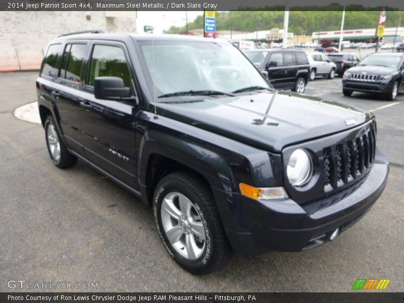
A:
POLYGON ((313 173, 312 160, 304 149, 293 151, 287 163, 287 178, 293 186, 302 186, 309 182, 313 173))

